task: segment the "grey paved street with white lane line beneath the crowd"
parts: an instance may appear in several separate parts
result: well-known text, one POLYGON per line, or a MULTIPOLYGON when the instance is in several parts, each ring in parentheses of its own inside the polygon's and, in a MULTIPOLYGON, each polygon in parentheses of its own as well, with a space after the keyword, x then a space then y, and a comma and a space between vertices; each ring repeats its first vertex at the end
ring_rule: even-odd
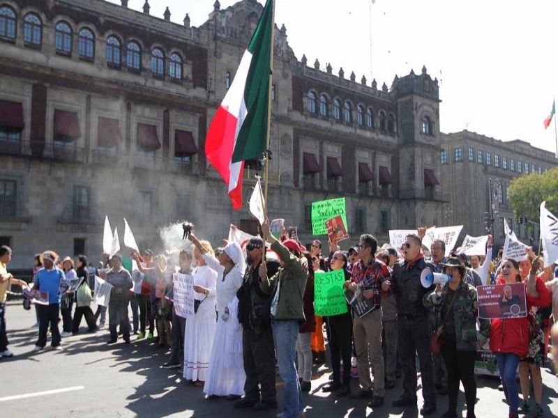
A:
MULTIPOLYGON (((193 387, 174 371, 160 369, 167 354, 146 341, 130 346, 107 346, 107 330, 63 339, 61 352, 33 355, 36 339, 34 311, 24 311, 21 302, 9 302, 6 312, 11 359, 0 360, 0 410, 3 417, 275 417, 278 411, 234 410, 226 400, 208 401, 202 389, 193 387), (37 392, 59 391, 38 395, 37 392), (30 395, 33 396, 22 396, 30 395)), ((84 330, 85 328, 82 328, 84 330)), ((418 417, 418 410, 391 408, 400 394, 398 387, 386 393, 386 405, 372 412, 367 401, 336 399, 321 392, 330 369, 315 371, 312 391, 305 394, 308 417, 418 417)), ((476 416, 507 417, 497 378, 479 377, 476 416)), ((543 370, 545 417, 558 415, 558 378, 543 370)), ((356 380, 353 381, 356 389, 356 380)), ((278 384, 278 398, 282 390, 278 384)), ((421 393, 418 393, 419 406, 421 393)), ((465 409, 465 398, 460 397, 465 409)), ((439 417, 446 410, 446 396, 438 397, 439 417)), ((465 415, 465 412, 464 412, 465 415)))

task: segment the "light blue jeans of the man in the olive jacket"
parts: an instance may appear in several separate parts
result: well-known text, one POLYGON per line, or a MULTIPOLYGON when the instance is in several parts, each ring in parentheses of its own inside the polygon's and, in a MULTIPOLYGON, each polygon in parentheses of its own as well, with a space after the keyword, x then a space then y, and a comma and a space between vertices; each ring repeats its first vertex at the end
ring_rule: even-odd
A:
POLYGON ((273 329, 279 374, 285 382, 283 418, 299 418, 304 410, 301 385, 295 365, 299 321, 272 320, 271 328, 273 329))

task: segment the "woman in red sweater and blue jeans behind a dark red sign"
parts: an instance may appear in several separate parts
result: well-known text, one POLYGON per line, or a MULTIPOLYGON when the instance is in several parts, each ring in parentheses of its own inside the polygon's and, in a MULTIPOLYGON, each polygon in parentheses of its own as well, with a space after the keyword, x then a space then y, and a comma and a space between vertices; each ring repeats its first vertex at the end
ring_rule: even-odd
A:
MULTIPOLYGON (((529 277, 525 281, 527 312, 531 307, 545 307, 550 303, 550 293, 541 279, 536 277, 538 258, 533 261, 529 277)), ((512 284, 521 281, 518 262, 506 258, 502 262, 502 274, 496 284, 512 284)), ((519 394, 515 373, 520 359, 529 352, 529 320, 527 318, 493 319, 490 326, 490 350, 495 353, 504 394, 509 405, 509 417, 518 417, 519 394)))

